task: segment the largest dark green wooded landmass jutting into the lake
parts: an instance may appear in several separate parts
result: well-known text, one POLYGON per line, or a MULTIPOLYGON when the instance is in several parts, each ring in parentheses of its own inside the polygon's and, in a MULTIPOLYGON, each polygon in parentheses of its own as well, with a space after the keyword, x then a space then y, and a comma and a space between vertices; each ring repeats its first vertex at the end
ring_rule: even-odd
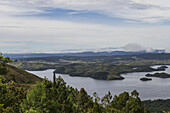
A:
POLYGON ((164 71, 165 66, 156 69, 150 66, 125 66, 111 64, 74 63, 58 67, 54 72, 70 76, 91 77, 98 80, 123 80, 123 73, 164 71))

